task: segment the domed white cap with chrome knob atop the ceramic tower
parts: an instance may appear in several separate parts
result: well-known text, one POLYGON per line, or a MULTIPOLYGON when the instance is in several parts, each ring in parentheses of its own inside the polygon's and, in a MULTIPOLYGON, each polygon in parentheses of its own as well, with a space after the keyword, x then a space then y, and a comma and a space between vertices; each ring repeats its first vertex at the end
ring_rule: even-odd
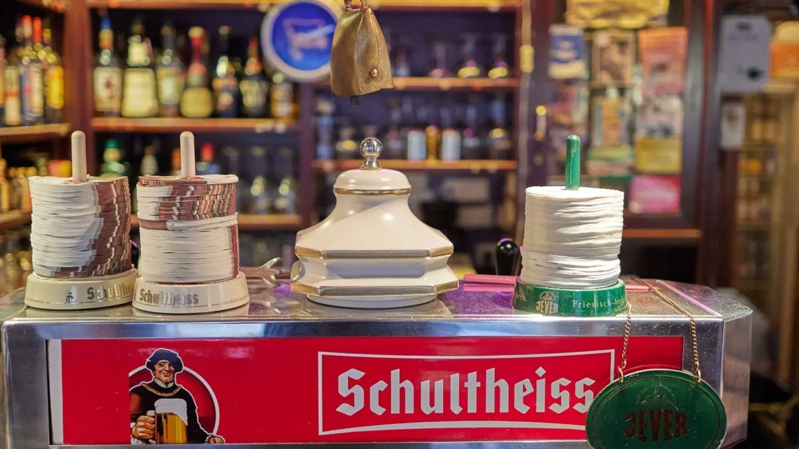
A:
POLYGON ((333 193, 344 195, 408 195, 411 184, 407 177, 396 170, 380 167, 377 158, 383 151, 383 144, 374 137, 360 142, 360 153, 364 165, 360 169, 341 173, 333 185, 333 193))

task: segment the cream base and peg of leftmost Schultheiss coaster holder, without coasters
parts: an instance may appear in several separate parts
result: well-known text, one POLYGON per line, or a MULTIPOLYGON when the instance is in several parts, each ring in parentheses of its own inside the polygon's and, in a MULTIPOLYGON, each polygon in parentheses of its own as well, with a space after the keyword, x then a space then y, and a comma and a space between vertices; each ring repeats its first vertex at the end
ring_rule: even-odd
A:
MULTIPOLYGON (((86 137, 72 133, 72 182, 87 182, 86 137)), ((108 276, 56 278, 31 273, 25 286, 25 304, 50 310, 80 310, 128 304, 133 300, 136 269, 108 276)))

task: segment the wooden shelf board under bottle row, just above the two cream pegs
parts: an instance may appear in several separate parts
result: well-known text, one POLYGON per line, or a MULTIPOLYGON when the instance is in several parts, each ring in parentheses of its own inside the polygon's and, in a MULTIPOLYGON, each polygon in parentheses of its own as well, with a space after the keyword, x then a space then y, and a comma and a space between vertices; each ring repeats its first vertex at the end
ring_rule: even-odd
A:
POLYGON ((277 118, 121 118, 94 117, 99 133, 285 133, 294 121, 277 118))

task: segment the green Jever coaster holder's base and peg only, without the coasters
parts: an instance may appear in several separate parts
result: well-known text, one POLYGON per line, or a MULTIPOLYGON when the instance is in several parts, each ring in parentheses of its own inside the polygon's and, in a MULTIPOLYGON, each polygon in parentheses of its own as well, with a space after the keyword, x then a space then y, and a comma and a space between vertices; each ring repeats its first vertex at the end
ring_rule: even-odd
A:
MULTIPOLYGON (((580 188, 580 138, 566 139, 566 190, 580 188)), ((605 288, 564 289, 525 284, 516 278, 513 307, 551 316, 614 316, 624 312, 624 281, 605 288)))

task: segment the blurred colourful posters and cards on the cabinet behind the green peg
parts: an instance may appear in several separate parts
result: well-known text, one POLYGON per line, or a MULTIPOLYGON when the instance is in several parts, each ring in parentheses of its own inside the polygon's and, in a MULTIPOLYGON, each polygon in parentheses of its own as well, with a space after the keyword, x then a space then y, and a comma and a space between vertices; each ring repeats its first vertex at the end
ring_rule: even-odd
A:
MULTIPOLYGON (((555 2, 546 114, 548 184, 562 183, 566 136, 582 137, 584 182, 625 192, 627 213, 681 213, 688 30, 682 2, 610 12, 555 2), (671 8, 671 10, 670 10, 671 8)), ((561 184, 562 185, 562 184, 561 184)))

